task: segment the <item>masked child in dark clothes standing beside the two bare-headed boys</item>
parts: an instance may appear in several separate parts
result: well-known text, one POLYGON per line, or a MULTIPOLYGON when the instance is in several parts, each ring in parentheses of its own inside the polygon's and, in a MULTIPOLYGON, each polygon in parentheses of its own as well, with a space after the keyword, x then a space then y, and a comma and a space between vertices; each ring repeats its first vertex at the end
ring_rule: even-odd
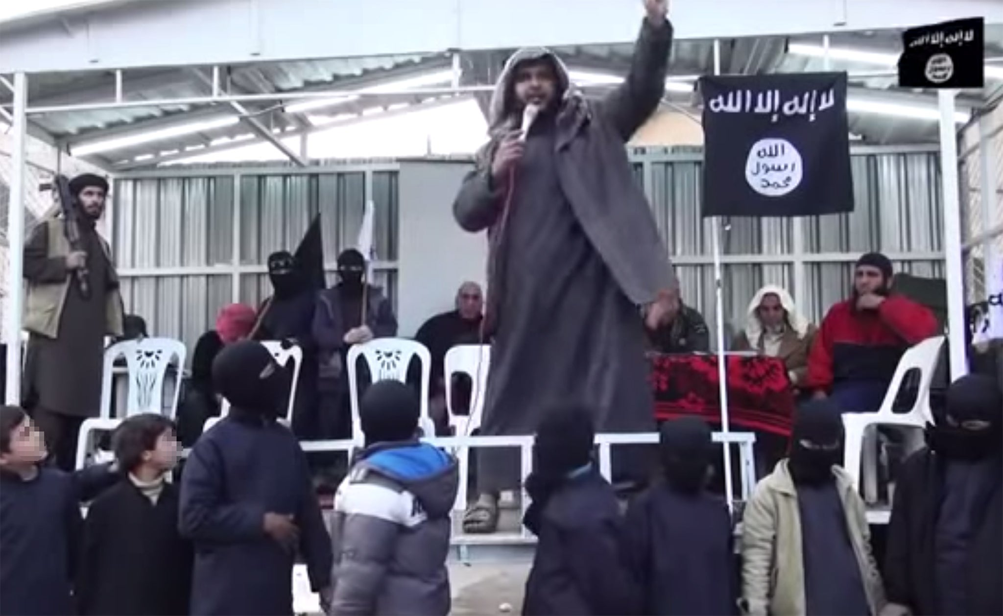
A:
POLYGON ((242 340, 220 351, 213 383, 230 412, 199 438, 182 474, 179 530, 196 553, 191 613, 293 614, 297 554, 327 603, 331 538, 306 454, 277 421, 279 365, 242 340))

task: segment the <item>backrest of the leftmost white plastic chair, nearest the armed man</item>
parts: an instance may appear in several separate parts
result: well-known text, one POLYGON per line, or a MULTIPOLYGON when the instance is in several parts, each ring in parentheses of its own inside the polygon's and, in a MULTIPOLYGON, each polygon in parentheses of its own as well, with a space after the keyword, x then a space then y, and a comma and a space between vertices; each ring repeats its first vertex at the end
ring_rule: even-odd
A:
POLYGON ((119 357, 125 358, 128 378, 128 395, 124 416, 144 412, 163 413, 163 381, 168 367, 174 364, 178 369, 174 399, 168 414, 174 418, 178 412, 178 397, 181 394, 182 371, 188 350, 185 343, 174 338, 142 338, 123 340, 109 346, 104 351, 104 366, 101 374, 101 415, 111 416, 111 390, 114 378, 114 363, 119 357))

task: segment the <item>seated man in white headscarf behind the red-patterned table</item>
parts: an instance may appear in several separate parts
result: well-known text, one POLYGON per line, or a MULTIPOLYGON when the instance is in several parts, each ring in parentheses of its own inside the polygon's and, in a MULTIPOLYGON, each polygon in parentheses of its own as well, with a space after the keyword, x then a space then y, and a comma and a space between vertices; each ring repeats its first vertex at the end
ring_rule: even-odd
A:
POLYGON ((808 369, 808 351, 815 327, 794 306, 786 289, 766 285, 749 302, 745 329, 735 336, 733 351, 756 351, 778 357, 787 368, 787 376, 796 387, 808 369))

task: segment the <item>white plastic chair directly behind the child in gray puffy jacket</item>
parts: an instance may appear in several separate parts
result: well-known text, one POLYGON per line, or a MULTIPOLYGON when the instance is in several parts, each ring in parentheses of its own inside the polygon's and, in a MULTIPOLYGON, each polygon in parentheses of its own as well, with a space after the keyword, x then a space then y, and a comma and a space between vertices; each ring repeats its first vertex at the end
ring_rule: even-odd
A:
POLYGON ((365 358, 372 382, 397 380, 407 382, 407 367, 417 357, 421 363, 421 415, 418 426, 425 435, 435 433, 435 425, 428 416, 428 381, 431 379, 432 360, 425 345, 405 338, 376 338, 365 344, 355 344, 348 349, 348 393, 352 406, 352 439, 360 446, 364 442, 359 421, 359 380, 356 364, 365 358))

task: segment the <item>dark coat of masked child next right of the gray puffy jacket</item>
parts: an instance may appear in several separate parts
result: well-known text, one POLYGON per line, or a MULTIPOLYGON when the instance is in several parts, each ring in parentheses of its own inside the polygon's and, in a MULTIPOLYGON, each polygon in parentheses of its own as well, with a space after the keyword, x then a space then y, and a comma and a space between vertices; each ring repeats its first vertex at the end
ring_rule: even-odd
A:
POLYGON ((596 471, 568 480, 540 516, 539 543, 523 614, 633 614, 637 587, 627 567, 613 487, 596 471))

